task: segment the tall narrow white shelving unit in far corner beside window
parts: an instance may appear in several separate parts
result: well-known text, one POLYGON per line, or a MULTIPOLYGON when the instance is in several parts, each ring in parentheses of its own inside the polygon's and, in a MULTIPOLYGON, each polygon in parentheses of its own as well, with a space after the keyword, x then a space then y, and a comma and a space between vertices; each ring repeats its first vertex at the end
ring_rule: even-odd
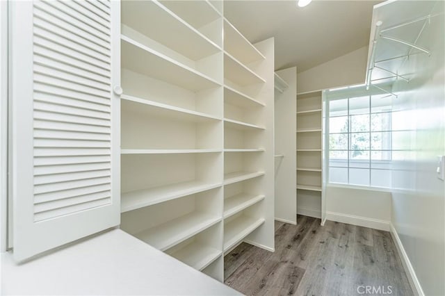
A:
POLYGON ((297 204, 299 213, 321 213, 322 97, 321 92, 297 95, 297 204))

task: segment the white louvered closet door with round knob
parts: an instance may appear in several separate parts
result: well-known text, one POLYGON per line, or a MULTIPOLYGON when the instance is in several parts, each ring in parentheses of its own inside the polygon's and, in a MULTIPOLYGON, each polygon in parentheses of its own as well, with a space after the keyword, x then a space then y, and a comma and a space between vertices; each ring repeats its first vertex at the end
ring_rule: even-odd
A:
POLYGON ((12 236, 22 261, 120 224, 120 3, 10 7, 12 236))

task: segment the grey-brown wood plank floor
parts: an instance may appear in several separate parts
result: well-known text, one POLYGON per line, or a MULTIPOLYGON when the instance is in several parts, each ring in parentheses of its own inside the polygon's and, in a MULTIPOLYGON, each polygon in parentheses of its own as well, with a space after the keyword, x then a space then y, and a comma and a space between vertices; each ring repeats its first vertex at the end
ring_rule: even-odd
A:
POLYGON ((225 283, 245 295, 360 295, 359 286, 413 295, 389 232, 297 219, 275 223, 274 253, 243 242, 227 254, 225 283))

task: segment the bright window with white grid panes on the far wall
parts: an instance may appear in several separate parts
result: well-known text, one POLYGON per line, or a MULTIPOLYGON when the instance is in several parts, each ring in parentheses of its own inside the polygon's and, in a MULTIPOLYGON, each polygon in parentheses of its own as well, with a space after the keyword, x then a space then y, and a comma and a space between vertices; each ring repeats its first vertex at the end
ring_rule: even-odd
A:
POLYGON ((391 100, 387 94, 327 95, 329 182, 391 187, 391 100))

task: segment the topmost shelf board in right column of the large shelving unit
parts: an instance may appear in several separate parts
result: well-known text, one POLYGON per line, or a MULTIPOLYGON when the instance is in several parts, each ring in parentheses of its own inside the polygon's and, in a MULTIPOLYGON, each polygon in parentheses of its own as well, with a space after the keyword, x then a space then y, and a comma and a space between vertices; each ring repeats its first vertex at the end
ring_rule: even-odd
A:
POLYGON ((224 49, 243 64, 265 59, 264 55, 227 19, 224 19, 224 49))

